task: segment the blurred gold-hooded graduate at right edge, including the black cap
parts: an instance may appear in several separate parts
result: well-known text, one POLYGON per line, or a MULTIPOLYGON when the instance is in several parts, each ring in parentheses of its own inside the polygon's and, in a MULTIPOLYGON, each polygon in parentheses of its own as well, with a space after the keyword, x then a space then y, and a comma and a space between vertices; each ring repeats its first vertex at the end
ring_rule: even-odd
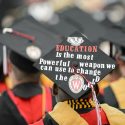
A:
MULTIPOLYGON (((122 24, 123 25, 123 24, 122 24)), ((109 30, 106 34, 106 39, 111 41, 112 44, 116 46, 116 54, 115 60, 120 69, 121 77, 112 82, 107 88, 104 90, 104 100, 109 105, 124 109, 124 47, 125 47, 125 35, 123 26, 119 27, 119 31, 117 29, 109 30)))

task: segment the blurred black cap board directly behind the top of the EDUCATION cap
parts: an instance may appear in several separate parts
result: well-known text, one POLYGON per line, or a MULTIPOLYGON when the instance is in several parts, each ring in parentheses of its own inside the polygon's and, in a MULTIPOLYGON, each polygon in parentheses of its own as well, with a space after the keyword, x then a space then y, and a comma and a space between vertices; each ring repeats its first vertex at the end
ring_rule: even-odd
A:
POLYGON ((60 15, 72 25, 78 27, 79 31, 86 34, 90 41, 96 42, 102 38, 106 32, 105 27, 96 22, 89 14, 78 8, 70 8, 60 15), (81 29, 79 28, 81 27, 81 29))

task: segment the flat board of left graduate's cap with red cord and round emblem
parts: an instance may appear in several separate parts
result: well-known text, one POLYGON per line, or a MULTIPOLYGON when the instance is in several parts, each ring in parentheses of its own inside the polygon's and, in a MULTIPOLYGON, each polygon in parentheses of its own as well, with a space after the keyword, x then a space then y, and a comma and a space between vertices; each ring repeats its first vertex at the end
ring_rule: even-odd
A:
POLYGON ((56 35, 27 19, 19 21, 12 29, 13 33, 0 34, 0 43, 34 62, 60 42, 56 35))

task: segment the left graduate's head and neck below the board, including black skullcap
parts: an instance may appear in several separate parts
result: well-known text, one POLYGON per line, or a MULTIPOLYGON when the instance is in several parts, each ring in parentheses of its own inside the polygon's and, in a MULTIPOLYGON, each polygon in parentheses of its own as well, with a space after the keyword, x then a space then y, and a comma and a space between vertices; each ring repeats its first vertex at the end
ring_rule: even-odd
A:
POLYGON ((38 82, 40 72, 33 67, 33 62, 10 51, 8 54, 8 72, 14 82, 38 82))

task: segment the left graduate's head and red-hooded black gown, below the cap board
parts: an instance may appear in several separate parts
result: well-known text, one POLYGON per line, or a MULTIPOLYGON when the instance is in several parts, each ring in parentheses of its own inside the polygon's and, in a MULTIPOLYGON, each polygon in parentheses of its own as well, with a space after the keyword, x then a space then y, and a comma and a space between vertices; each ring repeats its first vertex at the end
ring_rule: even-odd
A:
POLYGON ((4 92, 0 98, 0 124, 27 125, 37 122, 42 124, 42 89, 39 85, 39 71, 32 67, 29 60, 14 51, 10 51, 8 59, 9 77, 14 88, 4 92), (21 62, 26 66, 29 65, 28 68, 20 68, 21 62))

